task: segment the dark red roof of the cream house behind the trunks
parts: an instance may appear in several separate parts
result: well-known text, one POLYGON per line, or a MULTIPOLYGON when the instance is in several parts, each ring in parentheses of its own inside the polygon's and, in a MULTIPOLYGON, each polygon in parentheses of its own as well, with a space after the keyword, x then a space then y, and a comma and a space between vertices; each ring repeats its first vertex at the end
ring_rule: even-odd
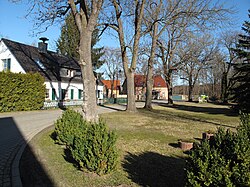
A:
MULTIPOLYGON (((145 87, 146 86, 146 76, 136 74, 134 77, 135 87, 145 87)), ((167 87, 166 81, 160 76, 155 75, 153 78, 153 87, 167 87)))

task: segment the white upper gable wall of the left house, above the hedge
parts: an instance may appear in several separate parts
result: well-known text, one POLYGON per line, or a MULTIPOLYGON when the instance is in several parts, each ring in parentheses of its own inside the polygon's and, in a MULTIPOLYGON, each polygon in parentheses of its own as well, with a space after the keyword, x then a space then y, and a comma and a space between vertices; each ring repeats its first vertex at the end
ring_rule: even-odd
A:
POLYGON ((10 71, 13 73, 25 73, 24 69, 17 62, 14 55, 10 52, 10 50, 6 47, 3 41, 0 42, 0 71, 4 70, 3 59, 11 59, 10 62, 10 71))

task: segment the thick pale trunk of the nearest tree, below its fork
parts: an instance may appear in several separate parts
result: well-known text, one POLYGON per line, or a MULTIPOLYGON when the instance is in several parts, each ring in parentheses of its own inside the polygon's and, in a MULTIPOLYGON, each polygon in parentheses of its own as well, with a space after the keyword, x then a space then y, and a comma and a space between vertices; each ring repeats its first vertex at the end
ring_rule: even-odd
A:
POLYGON ((96 104, 96 90, 95 90, 95 76, 93 73, 91 61, 91 32, 80 37, 79 64, 82 72, 83 81, 83 117, 87 121, 98 121, 97 104, 96 104))

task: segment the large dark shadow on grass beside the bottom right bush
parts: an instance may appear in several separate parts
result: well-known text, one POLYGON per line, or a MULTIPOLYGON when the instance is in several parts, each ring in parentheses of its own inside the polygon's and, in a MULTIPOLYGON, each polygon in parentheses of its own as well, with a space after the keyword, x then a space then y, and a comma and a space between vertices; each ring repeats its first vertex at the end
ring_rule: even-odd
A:
POLYGON ((164 156, 156 152, 144 152, 125 156, 122 166, 129 178, 140 186, 184 186, 183 158, 164 156))

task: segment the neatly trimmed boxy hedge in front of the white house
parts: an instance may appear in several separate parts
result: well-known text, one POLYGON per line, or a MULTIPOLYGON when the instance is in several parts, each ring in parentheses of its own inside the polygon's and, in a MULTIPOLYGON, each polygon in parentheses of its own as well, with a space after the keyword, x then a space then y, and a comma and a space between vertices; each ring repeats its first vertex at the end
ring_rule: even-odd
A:
POLYGON ((44 98, 40 74, 0 72, 0 112, 38 110, 44 98))

